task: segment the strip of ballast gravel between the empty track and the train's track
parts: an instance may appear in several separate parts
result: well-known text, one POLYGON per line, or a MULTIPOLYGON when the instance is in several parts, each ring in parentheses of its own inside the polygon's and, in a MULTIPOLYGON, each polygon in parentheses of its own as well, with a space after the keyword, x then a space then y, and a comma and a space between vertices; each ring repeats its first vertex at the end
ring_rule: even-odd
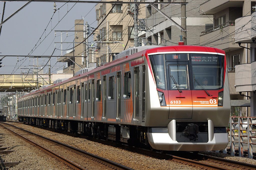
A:
POLYGON ((104 145, 87 139, 72 137, 49 130, 15 123, 15 126, 27 129, 50 139, 66 143, 92 154, 112 160, 133 169, 199 169, 175 161, 153 158, 144 154, 124 150, 122 148, 104 145))

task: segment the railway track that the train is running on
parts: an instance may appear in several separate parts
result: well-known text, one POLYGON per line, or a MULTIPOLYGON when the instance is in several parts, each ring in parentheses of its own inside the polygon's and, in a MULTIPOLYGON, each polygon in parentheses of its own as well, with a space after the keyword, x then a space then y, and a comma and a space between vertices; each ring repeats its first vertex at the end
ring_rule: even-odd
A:
MULTIPOLYGON (((13 122, 13 121, 11 121, 11 122, 13 122)), ((18 122, 15 122, 15 123, 18 123, 18 122)), ((38 126, 36 126, 36 127, 38 127, 38 126)), ((122 148, 125 148, 126 150, 130 150, 133 152, 139 152, 139 153, 154 156, 157 158, 162 158, 165 160, 172 160, 172 161, 188 164, 193 167, 199 167, 199 168, 203 168, 203 169, 226 169, 226 170, 228 170, 228 169, 256 169, 256 165, 251 165, 251 164, 243 163, 243 162, 237 162, 237 161, 233 161, 233 160, 227 160, 227 159, 218 158, 215 156, 209 156, 209 155, 204 155, 204 154, 195 154, 195 153, 191 153, 191 152, 160 153, 157 151, 150 151, 147 149, 130 147, 127 145, 121 145, 120 143, 112 143, 112 142, 108 142, 105 140, 85 137, 85 136, 81 136, 78 134, 66 133, 66 132, 63 132, 60 130, 56 130, 56 129, 47 128, 47 130, 51 130, 53 132, 57 131, 57 132, 61 132, 62 134, 71 135, 71 136, 75 136, 75 137, 82 137, 82 138, 86 138, 86 139, 100 142, 103 144, 112 145, 112 146, 116 146, 116 147, 122 147, 122 148)))

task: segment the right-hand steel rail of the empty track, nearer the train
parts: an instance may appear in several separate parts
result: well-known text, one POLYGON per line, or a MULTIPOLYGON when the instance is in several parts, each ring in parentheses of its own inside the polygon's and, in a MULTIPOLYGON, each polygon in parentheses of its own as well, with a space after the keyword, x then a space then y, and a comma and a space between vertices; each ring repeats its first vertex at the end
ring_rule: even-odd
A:
MULTIPOLYGON (((14 122, 14 121, 13 121, 13 122, 14 122)), ((1 122, 1 123, 3 123, 3 122, 1 122)), ((18 123, 18 122, 15 122, 15 123, 18 123)), ((8 123, 4 123, 4 124, 8 124, 8 123)), ((93 159, 97 159, 97 160, 99 160, 99 161, 101 161, 101 162, 104 162, 104 163, 106 163, 106 164, 109 164, 109 165, 111 165, 111 166, 114 166, 114 167, 116 167, 116 168, 118 168, 118 169, 133 170, 132 168, 129 168, 129 167, 124 166, 124 165, 122 165, 122 164, 113 162, 113 161, 111 161, 111 160, 102 158, 102 157, 100 157, 100 156, 98 156, 98 155, 94 155, 94 154, 92 154, 92 153, 89 153, 89 152, 86 152, 86 151, 84 151, 84 150, 81 150, 81 149, 75 148, 75 147, 73 147, 73 146, 67 145, 67 144, 65 144, 65 143, 61 143, 61 142, 59 142, 59 141, 56 141, 56 140, 47 138, 47 137, 45 137, 45 136, 36 134, 36 133, 34 133, 34 132, 30 132, 30 131, 28 131, 28 130, 26 130, 26 129, 23 129, 23 128, 21 128, 21 127, 18 127, 18 126, 12 125, 12 124, 8 124, 8 125, 11 125, 11 126, 13 126, 13 127, 16 127, 16 128, 18 128, 18 129, 21 129, 21 130, 23 130, 23 131, 25 131, 25 132, 28 132, 28 133, 33 134, 33 135, 36 135, 36 136, 41 137, 41 138, 43 138, 43 139, 46 139, 46 140, 48 140, 48 141, 54 142, 54 143, 56 143, 56 144, 58 144, 58 145, 67 147, 67 148, 72 149, 72 150, 74 150, 74 151, 76 151, 76 152, 85 154, 85 155, 87 155, 87 156, 89 156, 89 157, 91 157, 91 158, 93 158, 93 159)))

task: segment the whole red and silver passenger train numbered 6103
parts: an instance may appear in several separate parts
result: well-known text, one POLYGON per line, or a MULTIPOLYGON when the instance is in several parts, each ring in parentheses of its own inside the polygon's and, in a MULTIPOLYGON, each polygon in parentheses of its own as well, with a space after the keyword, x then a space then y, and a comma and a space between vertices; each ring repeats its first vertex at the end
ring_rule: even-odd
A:
POLYGON ((134 47, 19 98, 19 121, 157 150, 221 150, 230 116, 226 70, 220 49, 134 47))

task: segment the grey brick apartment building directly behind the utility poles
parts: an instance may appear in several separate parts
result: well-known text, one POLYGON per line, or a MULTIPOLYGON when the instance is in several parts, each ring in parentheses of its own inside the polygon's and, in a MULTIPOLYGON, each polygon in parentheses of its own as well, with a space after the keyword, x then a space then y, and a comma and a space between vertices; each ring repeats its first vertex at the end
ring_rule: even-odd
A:
MULTIPOLYGON (((206 0, 194 0, 186 4, 186 21, 187 21, 187 45, 199 45, 199 36, 201 32, 213 27, 212 15, 200 15, 200 4, 206 0)), ((163 2, 170 2, 163 0, 163 2)), ((176 23, 181 25, 181 5, 156 5, 166 15, 172 18, 176 23)), ((146 7, 146 43, 147 45, 177 45, 180 41, 181 30, 172 22, 167 20, 163 15, 156 11, 155 8, 148 5, 146 7)))

